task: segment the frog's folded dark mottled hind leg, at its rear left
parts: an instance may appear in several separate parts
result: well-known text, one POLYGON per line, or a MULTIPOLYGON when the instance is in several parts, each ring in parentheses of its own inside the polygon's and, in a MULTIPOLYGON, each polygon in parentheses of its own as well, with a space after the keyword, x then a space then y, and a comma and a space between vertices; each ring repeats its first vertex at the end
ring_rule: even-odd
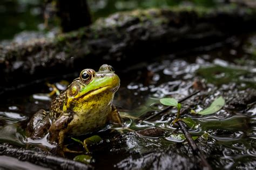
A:
POLYGON ((26 135, 32 139, 42 138, 48 132, 50 125, 48 112, 41 109, 30 119, 26 135))

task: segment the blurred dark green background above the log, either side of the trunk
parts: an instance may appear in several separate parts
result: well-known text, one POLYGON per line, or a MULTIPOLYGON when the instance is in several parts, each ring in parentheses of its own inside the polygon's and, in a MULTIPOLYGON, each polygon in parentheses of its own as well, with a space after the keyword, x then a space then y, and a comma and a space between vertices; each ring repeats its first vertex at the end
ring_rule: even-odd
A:
MULTIPOLYGON (((117 11, 133 9, 165 8, 169 6, 205 6, 218 8, 223 4, 237 3, 255 6, 253 0, 88 0, 87 1, 93 20, 106 17, 117 11)), ((12 39, 21 31, 41 31, 45 33, 58 27, 59 20, 55 17, 56 2, 43 0, 2 0, 0 2, 0 40, 12 39), (45 24, 45 19, 48 23, 45 24)), ((37 35, 38 36, 38 35, 37 35)), ((49 33, 48 36, 51 36, 49 33)))

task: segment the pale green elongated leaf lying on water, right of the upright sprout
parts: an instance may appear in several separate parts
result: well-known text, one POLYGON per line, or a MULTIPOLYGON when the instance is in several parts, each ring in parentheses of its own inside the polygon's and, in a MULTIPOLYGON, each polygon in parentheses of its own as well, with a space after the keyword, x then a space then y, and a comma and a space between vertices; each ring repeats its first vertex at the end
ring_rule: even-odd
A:
POLYGON ((212 104, 210 105, 210 107, 201 110, 199 112, 197 112, 197 114, 199 115, 210 115, 210 114, 214 114, 215 112, 219 111, 223 106, 225 105, 225 100, 222 96, 216 98, 212 104))

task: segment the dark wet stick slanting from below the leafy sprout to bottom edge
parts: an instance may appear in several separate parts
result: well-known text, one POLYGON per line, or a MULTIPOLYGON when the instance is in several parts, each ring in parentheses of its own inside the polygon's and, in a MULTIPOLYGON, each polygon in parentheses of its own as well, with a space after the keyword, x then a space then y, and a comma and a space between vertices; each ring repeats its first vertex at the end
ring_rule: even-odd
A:
POLYGON ((180 126, 180 129, 181 131, 184 133, 187 141, 188 141, 188 144, 190 144, 191 148, 192 148, 192 151, 194 154, 197 154, 198 157, 201 159, 201 163, 203 165, 203 169, 204 170, 212 170, 212 167, 208 164, 207 160, 205 159, 205 156, 203 153, 201 153, 201 151, 199 150, 199 148, 197 147, 197 144, 194 142, 194 140, 192 139, 191 137, 191 134, 188 133, 187 129, 186 129, 186 126, 185 126, 185 123, 182 122, 182 121, 178 121, 177 122, 180 126))

